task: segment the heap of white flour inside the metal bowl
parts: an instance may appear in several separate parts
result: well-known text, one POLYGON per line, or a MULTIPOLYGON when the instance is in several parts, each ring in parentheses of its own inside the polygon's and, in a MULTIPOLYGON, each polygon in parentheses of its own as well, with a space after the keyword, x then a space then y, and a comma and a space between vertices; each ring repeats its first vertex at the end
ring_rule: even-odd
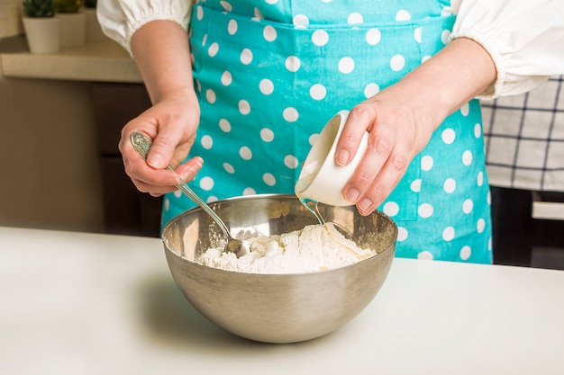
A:
POLYGON ((332 223, 310 225, 281 236, 251 238, 249 254, 237 258, 210 248, 197 262, 225 271, 250 273, 318 272, 359 262, 376 252, 360 249, 339 233, 332 223))

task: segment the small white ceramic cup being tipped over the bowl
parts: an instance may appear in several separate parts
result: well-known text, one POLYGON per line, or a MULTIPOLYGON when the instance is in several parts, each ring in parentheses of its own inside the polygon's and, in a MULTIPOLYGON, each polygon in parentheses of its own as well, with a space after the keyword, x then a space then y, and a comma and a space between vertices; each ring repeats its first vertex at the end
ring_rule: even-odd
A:
POLYGON ((368 132, 362 137, 359 149, 349 165, 342 166, 335 163, 335 147, 348 115, 348 111, 338 112, 315 140, 296 183, 298 198, 307 198, 332 206, 352 204, 344 198, 342 190, 357 169, 368 147, 368 132))

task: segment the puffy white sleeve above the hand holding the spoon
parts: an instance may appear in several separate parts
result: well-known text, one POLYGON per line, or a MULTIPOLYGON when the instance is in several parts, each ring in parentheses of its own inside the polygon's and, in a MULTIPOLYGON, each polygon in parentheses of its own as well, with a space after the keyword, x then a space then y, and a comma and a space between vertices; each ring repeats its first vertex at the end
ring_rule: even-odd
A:
POLYGON ((194 0, 98 0, 96 13, 108 38, 130 55, 132 35, 145 23, 174 21, 187 29, 194 0))

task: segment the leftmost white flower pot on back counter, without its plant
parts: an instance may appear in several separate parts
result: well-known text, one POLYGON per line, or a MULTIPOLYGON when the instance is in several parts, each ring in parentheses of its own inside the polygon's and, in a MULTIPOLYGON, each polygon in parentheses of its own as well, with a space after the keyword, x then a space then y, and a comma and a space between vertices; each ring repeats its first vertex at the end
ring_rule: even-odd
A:
POLYGON ((54 53, 60 49, 60 22, 56 17, 23 17, 23 29, 32 53, 54 53))

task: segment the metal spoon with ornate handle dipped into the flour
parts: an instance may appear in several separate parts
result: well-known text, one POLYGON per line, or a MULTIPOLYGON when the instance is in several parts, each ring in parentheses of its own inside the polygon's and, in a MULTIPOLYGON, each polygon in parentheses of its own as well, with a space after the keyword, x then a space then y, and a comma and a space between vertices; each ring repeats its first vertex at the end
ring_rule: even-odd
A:
MULTIPOLYGON (((139 152, 139 155, 141 155, 143 159, 147 159, 147 153, 149 152, 151 145, 149 138, 147 138, 140 132, 134 131, 132 133, 132 145, 133 148, 135 148, 137 152, 139 152)), ((174 168, 170 165, 167 166, 167 169, 174 172, 174 168)), ((223 220, 219 216, 217 216, 214 210, 212 210, 210 206, 205 203, 205 201, 202 201, 202 199, 196 195, 196 192, 193 192, 192 189, 188 187, 188 185, 184 182, 184 180, 182 180, 182 178, 180 178, 180 183, 178 183, 176 186, 192 201, 195 201, 198 206, 204 209, 205 212, 210 215, 212 219, 214 219, 219 228, 222 229, 223 234, 225 235, 225 237, 227 237, 227 245, 225 246, 227 251, 235 253, 238 258, 250 252, 250 241, 233 238, 229 231, 229 228, 227 228, 223 220)))

